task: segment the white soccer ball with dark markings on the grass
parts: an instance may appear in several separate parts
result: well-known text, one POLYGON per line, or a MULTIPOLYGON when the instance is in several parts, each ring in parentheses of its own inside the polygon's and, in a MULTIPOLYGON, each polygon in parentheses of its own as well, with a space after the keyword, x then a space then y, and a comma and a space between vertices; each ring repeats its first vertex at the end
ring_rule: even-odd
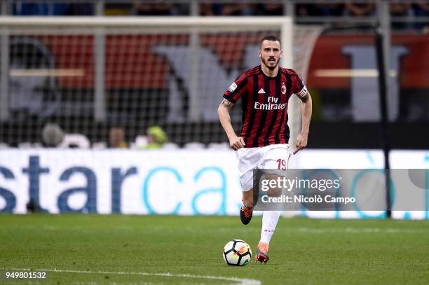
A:
POLYGON ((228 265, 244 266, 252 258, 249 244, 241 239, 233 239, 224 246, 224 260, 228 265))

